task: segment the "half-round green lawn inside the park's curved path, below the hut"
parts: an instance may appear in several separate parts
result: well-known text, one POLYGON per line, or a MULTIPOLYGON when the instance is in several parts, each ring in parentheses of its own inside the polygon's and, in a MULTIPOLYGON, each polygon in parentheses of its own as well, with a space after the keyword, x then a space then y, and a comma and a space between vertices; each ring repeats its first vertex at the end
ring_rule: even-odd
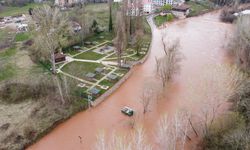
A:
POLYGON ((73 61, 62 68, 62 71, 79 77, 81 79, 85 79, 85 75, 88 72, 95 72, 95 69, 98 67, 104 67, 102 64, 98 63, 88 63, 88 62, 77 62, 73 61))

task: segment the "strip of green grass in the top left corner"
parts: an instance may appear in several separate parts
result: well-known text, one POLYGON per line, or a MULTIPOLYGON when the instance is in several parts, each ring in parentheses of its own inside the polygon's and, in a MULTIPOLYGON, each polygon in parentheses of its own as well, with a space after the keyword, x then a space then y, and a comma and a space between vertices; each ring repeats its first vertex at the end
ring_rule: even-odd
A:
POLYGON ((0 11, 0 17, 28 14, 29 8, 35 8, 41 6, 42 4, 39 3, 30 3, 22 7, 5 7, 2 11, 0 11))

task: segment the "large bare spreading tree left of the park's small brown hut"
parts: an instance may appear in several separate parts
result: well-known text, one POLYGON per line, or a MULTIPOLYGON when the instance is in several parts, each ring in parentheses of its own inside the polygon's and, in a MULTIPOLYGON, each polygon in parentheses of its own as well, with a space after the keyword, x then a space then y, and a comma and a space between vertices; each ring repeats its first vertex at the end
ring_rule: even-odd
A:
POLYGON ((32 24, 35 29, 35 46, 40 57, 50 60, 52 72, 56 73, 55 52, 60 51, 60 40, 69 29, 68 17, 58 8, 44 5, 34 10, 32 24))

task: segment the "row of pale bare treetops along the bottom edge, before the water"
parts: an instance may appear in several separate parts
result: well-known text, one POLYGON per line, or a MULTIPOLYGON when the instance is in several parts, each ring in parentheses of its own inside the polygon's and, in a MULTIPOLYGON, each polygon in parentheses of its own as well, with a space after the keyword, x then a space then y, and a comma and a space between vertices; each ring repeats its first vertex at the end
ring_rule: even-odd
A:
POLYGON ((97 136, 95 150, 165 150, 180 149, 184 150, 187 138, 188 120, 185 120, 184 114, 176 113, 173 118, 163 115, 155 128, 154 137, 150 140, 157 141, 153 146, 145 134, 141 125, 136 125, 130 135, 118 135, 114 133, 110 140, 104 132, 97 136), (130 139, 130 140, 127 140, 130 139))

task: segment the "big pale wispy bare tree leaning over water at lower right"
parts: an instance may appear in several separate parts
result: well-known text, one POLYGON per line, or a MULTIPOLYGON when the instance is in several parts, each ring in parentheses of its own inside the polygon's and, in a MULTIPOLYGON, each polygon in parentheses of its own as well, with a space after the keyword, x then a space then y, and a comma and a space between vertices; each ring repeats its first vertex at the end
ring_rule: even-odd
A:
POLYGON ((206 69, 196 78, 197 84, 189 83, 190 93, 187 94, 187 100, 191 100, 197 106, 192 109, 200 112, 193 114, 192 120, 198 127, 192 128, 201 136, 208 134, 215 118, 222 113, 221 106, 227 103, 246 78, 236 67, 213 65, 204 68, 206 69))

